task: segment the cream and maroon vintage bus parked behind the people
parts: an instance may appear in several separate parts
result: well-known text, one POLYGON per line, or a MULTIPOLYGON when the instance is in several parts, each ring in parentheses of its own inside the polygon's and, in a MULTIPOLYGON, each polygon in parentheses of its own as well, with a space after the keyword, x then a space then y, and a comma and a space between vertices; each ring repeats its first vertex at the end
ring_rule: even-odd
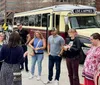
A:
POLYGON ((85 5, 55 5, 14 14, 14 28, 17 22, 30 31, 40 30, 47 38, 55 27, 59 34, 67 38, 68 29, 76 29, 80 40, 89 44, 92 33, 100 33, 100 25, 96 19, 96 9, 85 5))

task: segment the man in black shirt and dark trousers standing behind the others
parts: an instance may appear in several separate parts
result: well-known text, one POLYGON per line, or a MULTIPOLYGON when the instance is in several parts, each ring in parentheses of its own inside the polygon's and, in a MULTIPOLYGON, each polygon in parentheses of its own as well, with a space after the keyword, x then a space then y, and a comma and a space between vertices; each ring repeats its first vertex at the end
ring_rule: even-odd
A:
MULTIPOLYGON (((19 35, 20 35, 20 38, 21 38, 21 45, 23 47, 24 52, 26 52, 27 51, 27 44, 29 42, 29 38, 27 38, 27 37, 29 37, 28 36, 29 35, 28 31, 22 28, 22 24, 21 23, 17 23, 17 28, 18 28, 18 32, 19 32, 19 35)), ((21 68, 20 69, 21 70, 24 69, 24 65, 23 64, 21 64, 21 68)), ((29 71, 28 70, 28 58, 27 58, 27 56, 25 57, 25 69, 26 69, 26 72, 29 71)))

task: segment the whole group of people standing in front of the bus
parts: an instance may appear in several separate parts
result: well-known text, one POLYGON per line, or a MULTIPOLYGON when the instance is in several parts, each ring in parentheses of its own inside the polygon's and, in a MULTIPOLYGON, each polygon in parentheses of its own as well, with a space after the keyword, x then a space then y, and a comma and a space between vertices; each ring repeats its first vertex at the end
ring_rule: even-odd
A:
MULTIPOLYGON (((80 85, 78 68, 80 51, 82 50, 82 42, 77 37, 75 29, 69 29, 69 39, 65 41, 63 37, 58 35, 57 29, 51 30, 51 35, 48 37, 48 44, 40 31, 34 32, 34 37, 31 39, 30 34, 22 29, 22 24, 17 24, 18 30, 11 33, 7 44, 2 44, 0 51, 0 85, 21 85, 21 80, 15 83, 14 73, 20 72, 24 69, 23 62, 25 62, 26 72, 28 69, 28 57, 32 56, 32 65, 29 78, 34 77, 35 64, 38 63, 38 76, 40 80, 42 73, 42 60, 44 57, 44 50, 47 46, 48 52, 48 81, 46 84, 52 82, 53 67, 56 66, 55 85, 59 85, 59 78, 61 73, 62 55, 66 53, 66 66, 68 69, 68 76, 70 85, 80 85), (29 51, 27 46, 32 49, 29 51), (1 65, 1 64, 0 64, 1 65)), ((3 39, 0 35, 0 45, 3 39)), ((91 48, 86 54, 84 68, 82 75, 84 77, 84 85, 98 85, 95 81, 100 76, 100 34, 94 33, 90 36, 91 48)), ((19 75, 17 75, 19 76, 19 75)))

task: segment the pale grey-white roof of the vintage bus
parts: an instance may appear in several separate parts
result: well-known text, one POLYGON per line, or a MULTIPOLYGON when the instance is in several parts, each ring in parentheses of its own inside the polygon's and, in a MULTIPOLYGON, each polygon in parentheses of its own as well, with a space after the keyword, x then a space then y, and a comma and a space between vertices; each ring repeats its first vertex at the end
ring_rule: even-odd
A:
POLYGON ((32 12, 37 12, 37 11, 41 11, 41 10, 48 10, 48 9, 52 9, 55 12, 56 11, 67 11, 67 10, 73 11, 74 9, 93 9, 93 10, 96 10, 95 7, 86 6, 86 5, 63 4, 63 5, 54 5, 54 6, 50 6, 50 7, 45 7, 45 8, 41 8, 41 9, 35 9, 35 10, 20 12, 20 13, 15 13, 15 14, 32 13, 32 12))

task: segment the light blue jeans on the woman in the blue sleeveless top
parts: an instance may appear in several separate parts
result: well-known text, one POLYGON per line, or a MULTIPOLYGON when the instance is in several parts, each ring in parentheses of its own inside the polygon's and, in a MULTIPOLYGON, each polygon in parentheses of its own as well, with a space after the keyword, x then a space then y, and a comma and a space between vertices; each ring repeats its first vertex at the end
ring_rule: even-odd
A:
POLYGON ((31 66, 31 74, 32 75, 34 75, 35 64, 36 64, 36 61, 37 61, 37 64, 38 64, 38 75, 41 76, 42 60, 43 60, 43 54, 35 54, 35 56, 32 57, 32 66, 31 66))

